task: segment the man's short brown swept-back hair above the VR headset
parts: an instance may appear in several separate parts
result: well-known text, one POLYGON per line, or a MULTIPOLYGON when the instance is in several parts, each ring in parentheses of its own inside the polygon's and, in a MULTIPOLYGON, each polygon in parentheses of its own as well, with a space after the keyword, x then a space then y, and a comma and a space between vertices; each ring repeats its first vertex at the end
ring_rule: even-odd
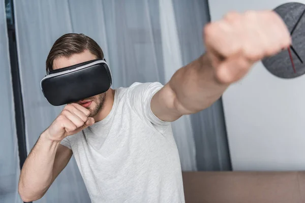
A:
POLYGON ((97 58, 104 59, 104 53, 98 43, 84 34, 67 33, 58 38, 53 44, 46 60, 47 73, 53 70, 53 61, 57 57, 70 57, 85 50, 89 50, 97 58))

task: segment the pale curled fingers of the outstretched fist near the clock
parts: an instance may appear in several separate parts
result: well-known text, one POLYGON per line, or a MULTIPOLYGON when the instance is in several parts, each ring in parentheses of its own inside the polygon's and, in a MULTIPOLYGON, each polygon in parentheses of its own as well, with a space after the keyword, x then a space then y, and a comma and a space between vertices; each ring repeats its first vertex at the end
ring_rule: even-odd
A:
POLYGON ((291 44, 287 26, 273 11, 229 13, 207 25, 204 37, 207 49, 216 50, 224 58, 241 53, 251 61, 276 54, 291 44))

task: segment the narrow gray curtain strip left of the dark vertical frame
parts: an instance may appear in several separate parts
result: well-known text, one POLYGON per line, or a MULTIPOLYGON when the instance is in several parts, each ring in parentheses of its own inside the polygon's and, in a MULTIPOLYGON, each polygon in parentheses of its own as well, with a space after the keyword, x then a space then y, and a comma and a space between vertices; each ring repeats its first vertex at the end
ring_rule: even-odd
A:
POLYGON ((22 202, 18 195, 20 174, 14 99, 5 3, 0 2, 0 202, 22 202))

